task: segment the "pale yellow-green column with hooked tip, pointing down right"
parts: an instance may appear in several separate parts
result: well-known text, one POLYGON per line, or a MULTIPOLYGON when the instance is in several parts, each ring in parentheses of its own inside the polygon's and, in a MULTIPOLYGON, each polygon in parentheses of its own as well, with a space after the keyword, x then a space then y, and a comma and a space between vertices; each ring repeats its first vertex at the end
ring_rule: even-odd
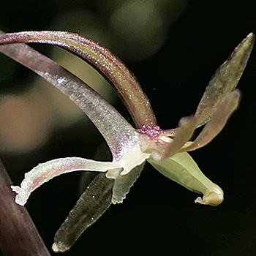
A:
POLYGON ((197 193, 202 193, 203 198, 197 197, 195 203, 217 206, 223 201, 222 189, 203 175, 195 161, 187 153, 178 153, 173 157, 157 162, 148 159, 160 173, 176 181, 178 184, 197 193))

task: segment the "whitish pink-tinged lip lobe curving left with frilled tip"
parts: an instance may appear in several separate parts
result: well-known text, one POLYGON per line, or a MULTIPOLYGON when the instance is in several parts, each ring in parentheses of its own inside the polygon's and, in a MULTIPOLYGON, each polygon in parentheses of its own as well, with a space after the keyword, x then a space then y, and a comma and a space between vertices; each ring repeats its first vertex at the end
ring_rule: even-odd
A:
POLYGON ((24 206, 34 189, 63 173, 70 173, 76 170, 105 172, 117 167, 121 166, 113 162, 99 162, 80 157, 59 158, 39 164, 29 173, 25 173, 25 179, 21 182, 20 187, 12 186, 12 189, 18 194, 15 197, 15 202, 20 206, 24 206))

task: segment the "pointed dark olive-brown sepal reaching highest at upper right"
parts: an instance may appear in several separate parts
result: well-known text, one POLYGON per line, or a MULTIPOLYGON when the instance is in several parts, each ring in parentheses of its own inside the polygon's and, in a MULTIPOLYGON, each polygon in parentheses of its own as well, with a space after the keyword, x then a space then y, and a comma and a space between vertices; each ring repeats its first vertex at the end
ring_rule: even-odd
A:
POLYGON ((250 33, 211 78, 195 113, 197 127, 206 124, 219 103, 236 88, 252 52, 254 40, 254 34, 250 33))

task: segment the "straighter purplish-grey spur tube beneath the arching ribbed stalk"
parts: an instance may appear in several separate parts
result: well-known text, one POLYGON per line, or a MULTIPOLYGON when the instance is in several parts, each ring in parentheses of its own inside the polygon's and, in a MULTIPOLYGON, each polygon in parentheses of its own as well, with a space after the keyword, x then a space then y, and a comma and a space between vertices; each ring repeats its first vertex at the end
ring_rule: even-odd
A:
POLYGON ((121 143, 132 135, 132 127, 123 116, 86 83, 29 45, 1 45, 1 34, 4 32, 0 31, 0 52, 36 72, 75 102, 102 133, 113 159, 121 157, 121 143))

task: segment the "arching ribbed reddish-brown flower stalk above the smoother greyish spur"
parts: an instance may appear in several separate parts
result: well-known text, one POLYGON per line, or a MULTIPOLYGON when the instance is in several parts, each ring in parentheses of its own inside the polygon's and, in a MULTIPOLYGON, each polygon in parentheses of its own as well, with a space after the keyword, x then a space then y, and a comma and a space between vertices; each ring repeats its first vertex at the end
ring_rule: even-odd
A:
POLYGON ((107 78, 127 105, 137 127, 157 124, 151 105, 135 75, 108 48, 80 34, 67 31, 28 31, 5 34, 2 43, 40 42, 58 45, 99 70, 107 78))

